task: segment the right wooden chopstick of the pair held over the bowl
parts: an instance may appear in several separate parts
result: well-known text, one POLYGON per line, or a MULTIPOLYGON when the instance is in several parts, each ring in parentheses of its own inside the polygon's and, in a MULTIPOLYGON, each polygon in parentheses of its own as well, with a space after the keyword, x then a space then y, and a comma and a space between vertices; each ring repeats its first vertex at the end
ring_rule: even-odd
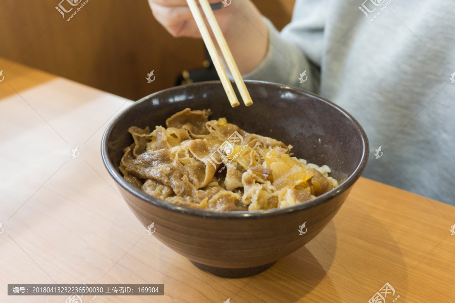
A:
POLYGON ((239 68, 237 67, 236 62, 234 61, 234 57, 232 56, 231 50, 229 49, 228 44, 226 43, 226 39, 219 28, 218 21, 216 21, 215 16, 213 15, 213 10, 208 2, 208 0, 199 0, 201 4, 202 11, 205 14, 205 17, 208 20, 208 23, 215 35, 216 41, 218 42, 218 46, 223 54, 224 60, 231 71, 232 76, 234 77, 234 81, 237 84, 237 88, 239 89, 240 95, 242 96, 243 102, 246 106, 250 106, 253 104, 253 100, 251 100, 250 93, 246 88, 245 82, 243 81, 242 75, 240 74, 239 68))

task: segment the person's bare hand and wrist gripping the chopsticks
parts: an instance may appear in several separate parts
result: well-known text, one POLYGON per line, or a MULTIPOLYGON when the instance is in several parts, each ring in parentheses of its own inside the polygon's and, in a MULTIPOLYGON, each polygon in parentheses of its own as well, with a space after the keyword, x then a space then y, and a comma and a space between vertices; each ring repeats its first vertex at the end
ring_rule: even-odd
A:
MULTIPOLYGON (((216 4, 220 0, 209 2, 216 4)), ((201 37, 186 0, 149 0, 149 5, 156 20, 174 37, 201 37)), ((204 16, 202 10, 201 14, 204 16)), ((252 71, 268 49, 268 28, 261 13, 250 0, 232 0, 214 14, 240 72, 252 71)))

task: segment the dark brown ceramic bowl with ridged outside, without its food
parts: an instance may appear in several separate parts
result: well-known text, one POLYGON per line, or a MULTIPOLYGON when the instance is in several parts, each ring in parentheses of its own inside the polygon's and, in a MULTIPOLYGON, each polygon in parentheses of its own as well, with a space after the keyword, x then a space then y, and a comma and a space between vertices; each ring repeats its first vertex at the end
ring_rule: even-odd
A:
POLYGON ((178 86, 145 97, 112 120, 101 145, 109 174, 142 224, 147 227, 154 222, 153 235, 161 242, 199 268, 224 277, 261 272, 319 234, 360 177, 369 151, 362 127, 337 105, 279 84, 247 81, 246 85, 254 101, 250 107, 232 108, 219 81, 178 86), (295 156, 329 165, 331 176, 344 181, 308 202, 254 212, 178 206, 127 183, 118 166, 122 149, 133 142, 128 127, 154 129, 187 107, 210 108, 213 119, 226 117, 249 133, 291 144, 295 156), (305 222, 301 235, 299 226, 305 222))

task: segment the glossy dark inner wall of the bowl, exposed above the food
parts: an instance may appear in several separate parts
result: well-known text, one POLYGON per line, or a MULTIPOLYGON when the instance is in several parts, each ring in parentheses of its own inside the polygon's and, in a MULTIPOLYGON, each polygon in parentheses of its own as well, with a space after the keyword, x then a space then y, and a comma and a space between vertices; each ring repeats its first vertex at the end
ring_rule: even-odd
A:
POLYGON ((123 148, 133 142, 129 126, 165 126, 166 118, 189 107, 210 108, 209 119, 226 117, 248 133, 290 144, 294 156, 328 165, 338 181, 358 178, 366 164, 368 141, 348 113, 319 96, 288 86, 259 81, 246 84, 254 102, 250 107, 232 108, 219 81, 178 86, 134 103, 111 122, 103 138, 103 156, 111 175, 122 183, 118 166, 123 148))

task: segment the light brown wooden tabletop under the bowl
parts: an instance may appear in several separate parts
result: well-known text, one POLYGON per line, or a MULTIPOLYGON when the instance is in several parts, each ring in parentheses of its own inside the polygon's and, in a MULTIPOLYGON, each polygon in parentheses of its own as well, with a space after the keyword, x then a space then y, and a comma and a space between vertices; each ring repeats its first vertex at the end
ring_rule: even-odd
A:
POLYGON ((320 235, 269 270, 198 270, 147 234, 101 161, 107 123, 131 101, 4 59, 2 69, 1 302, 67 297, 8 296, 7 284, 83 282, 165 285, 164 296, 83 298, 96 303, 366 303, 386 283, 387 303, 455 301, 455 207, 365 178, 320 235))

